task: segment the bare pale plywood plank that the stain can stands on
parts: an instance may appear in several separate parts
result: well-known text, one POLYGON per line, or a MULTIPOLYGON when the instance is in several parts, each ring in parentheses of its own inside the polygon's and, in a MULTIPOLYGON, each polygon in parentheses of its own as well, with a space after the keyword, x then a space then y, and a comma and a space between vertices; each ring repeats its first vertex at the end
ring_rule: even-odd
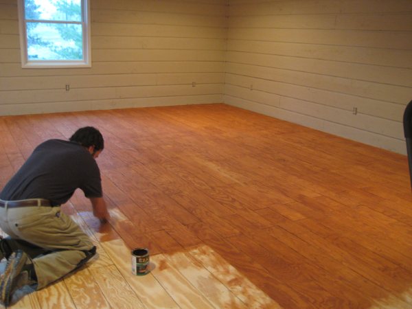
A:
POLYGON ((179 308, 151 273, 144 276, 132 273, 132 255, 122 240, 102 242, 102 247, 146 308, 179 308))

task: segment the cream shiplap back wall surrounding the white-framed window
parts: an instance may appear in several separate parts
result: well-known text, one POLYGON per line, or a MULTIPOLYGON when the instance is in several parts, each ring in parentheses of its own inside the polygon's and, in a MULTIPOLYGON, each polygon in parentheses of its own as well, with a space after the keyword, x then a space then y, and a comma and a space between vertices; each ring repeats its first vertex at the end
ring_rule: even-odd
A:
POLYGON ((0 0, 0 115, 222 102, 227 8, 91 0, 92 67, 22 69, 17 1, 0 0))

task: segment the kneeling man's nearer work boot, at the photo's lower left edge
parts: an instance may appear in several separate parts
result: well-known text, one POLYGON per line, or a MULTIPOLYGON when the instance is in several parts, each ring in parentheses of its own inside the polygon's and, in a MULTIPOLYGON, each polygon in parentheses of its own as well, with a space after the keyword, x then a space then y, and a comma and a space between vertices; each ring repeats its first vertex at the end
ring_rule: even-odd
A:
POLYGON ((13 252, 1 276, 0 302, 8 306, 14 291, 22 286, 36 284, 34 278, 36 278, 36 273, 28 255, 21 250, 13 252))

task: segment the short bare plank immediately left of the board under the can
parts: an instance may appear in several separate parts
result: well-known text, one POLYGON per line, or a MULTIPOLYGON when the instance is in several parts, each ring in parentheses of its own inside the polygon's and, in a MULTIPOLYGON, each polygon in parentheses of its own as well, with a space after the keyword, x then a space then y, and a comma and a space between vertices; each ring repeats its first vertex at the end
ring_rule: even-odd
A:
POLYGON ((112 308, 144 308, 116 266, 91 268, 91 274, 112 308))

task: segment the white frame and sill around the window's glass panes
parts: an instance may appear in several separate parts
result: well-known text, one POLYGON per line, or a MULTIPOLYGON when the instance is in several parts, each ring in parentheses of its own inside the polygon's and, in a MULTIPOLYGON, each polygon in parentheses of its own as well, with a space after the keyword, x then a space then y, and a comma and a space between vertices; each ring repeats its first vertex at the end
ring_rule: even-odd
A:
MULTIPOLYGON (((25 0, 18 0, 19 9, 19 32, 21 49, 21 67, 30 69, 41 68, 75 68, 91 67, 91 13, 90 0, 81 0, 82 5, 82 38, 83 59, 82 60, 29 60, 27 54, 27 21, 25 19, 25 0)), ((42 20, 47 23, 59 23, 58 21, 42 20)), ((61 22, 60 22, 61 23, 61 22)), ((67 22, 71 23, 71 22, 67 22)))

